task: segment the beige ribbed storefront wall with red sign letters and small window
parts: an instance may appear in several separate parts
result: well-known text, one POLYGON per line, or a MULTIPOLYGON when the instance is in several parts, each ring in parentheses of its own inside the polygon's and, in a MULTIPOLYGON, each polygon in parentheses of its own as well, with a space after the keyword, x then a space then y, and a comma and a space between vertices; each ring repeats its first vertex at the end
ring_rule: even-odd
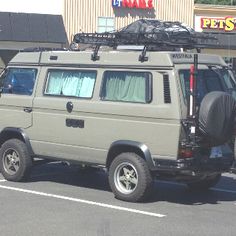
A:
POLYGON ((69 41, 78 32, 121 29, 140 18, 180 21, 193 26, 194 0, 65 0, 69 41))

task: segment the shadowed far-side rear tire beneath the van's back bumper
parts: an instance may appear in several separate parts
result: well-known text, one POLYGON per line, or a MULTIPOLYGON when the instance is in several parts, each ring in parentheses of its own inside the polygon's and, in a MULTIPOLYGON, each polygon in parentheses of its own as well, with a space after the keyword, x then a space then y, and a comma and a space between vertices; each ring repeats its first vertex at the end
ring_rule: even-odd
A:
POLYGON ((188 183, 188 187, 192 191, 207 191, 209 188, 214 187, 221 178, 221 174, 206 177, 205 179, 188 183))

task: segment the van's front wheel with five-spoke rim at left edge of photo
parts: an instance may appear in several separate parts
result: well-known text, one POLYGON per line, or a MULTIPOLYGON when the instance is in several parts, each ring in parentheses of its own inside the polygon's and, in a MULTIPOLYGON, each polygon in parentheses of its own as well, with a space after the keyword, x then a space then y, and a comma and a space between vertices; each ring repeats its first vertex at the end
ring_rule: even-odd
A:
POLYGON ((32 158, 24 142, 10 139, 0 149, 0 171, 9 181, 25 181, 31 172, 32 158))

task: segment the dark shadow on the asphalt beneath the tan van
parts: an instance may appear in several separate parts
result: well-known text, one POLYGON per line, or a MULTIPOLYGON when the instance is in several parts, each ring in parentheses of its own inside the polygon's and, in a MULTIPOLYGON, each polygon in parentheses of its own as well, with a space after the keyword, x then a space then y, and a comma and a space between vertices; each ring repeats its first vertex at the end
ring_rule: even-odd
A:
MULTIPOLYGON (((61 163, 36 166, 29 182, 42 181, 111 192, 107 174, 97 168, 81 169, 61 163)), ((183 205, 202 205, 219 204, 224 201, 236 201, 236 175, 222 176, 215 188, 201 193, 190 191, 184 184, 155 181, 153 193, 146 203, 170 202, 183 205)))

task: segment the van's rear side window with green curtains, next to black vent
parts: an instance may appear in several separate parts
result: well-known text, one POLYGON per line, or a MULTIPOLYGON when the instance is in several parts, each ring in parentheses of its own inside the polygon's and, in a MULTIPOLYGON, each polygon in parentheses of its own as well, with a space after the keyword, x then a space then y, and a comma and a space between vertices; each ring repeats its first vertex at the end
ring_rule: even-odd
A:
POLYGON ((106 71, 100 96, 108 101, 150 103, 151 85, 148 72, 106 71))

